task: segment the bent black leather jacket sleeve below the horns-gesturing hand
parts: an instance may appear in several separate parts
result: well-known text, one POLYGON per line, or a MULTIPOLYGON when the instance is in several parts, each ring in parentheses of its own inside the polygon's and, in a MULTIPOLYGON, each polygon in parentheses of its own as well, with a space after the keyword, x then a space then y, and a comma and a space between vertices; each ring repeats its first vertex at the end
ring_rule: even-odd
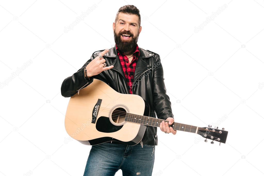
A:
POLYGON ((93 78, 102 79, 101 73, 95 76, 87 77, 84 75, 84 68, 96 57, 95 54, 72 76, 67 77, 63 82, 60 88, 61 94, 64 97, 71 97, 78 92, 79 89, 83 89, 93 82, 93 78), (88 84, 87 84, 88 83, 88 84))

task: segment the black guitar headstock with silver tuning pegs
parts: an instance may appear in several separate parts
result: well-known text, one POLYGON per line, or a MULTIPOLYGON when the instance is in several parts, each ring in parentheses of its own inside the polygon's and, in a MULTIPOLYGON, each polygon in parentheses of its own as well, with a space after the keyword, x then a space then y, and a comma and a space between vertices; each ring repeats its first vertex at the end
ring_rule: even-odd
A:
MULTIPOLYGON (((225 143, 227 140, 227 134, 228 131, 224 131, 225 129, 222 128, 222 130, 217 128, 211 128, 211 125, 208 125, 208 127, 198 128, 197 134, 200 134, 202 137, 206 138, 204 141, 207 142, 207 139, 211 139, 211 144, 214 144, 214 141, 225 143)), ((219 143, 219 145, 220 145, 219 143)))

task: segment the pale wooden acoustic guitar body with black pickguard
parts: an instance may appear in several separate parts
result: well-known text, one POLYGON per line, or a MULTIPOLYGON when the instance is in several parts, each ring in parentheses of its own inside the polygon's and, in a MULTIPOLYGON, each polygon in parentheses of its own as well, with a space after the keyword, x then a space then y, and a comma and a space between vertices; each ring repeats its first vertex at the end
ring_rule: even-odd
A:
POLYGON ((149 105, 139 95, 121 94, 105 82, 93 82, 73 95, 65 115, 67 133, 79 142, 97 145, 119 141, 138 144, 146 126, 125 121, 126 113, 149 116, 149 105))

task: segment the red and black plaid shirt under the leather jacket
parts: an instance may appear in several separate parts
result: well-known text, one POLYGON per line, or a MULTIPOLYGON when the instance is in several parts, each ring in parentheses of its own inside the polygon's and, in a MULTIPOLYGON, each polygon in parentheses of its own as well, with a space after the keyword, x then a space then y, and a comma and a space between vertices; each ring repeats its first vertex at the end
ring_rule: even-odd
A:
POLYGON ((135 68, 136 68, 136 61, 138 60, 138 57, 140 55, 138 45, 136 45, 136 50, 133 52, 133 56, 132 56, 133 59, 130 63, 129 63, 128 57, 126 57, 126 55, 123 55, 122 53, 119 52, 117 45, 116 45, 116 52, 117 52, 117 55, 119 57, 122 69, 123 69, 125 77, 126 77, 126 83, 128 86, 128 90, 129 90, 130 94, 133 94, 132 93, 132 84, 133 84, 133 80, 134 80, 134 72, 135 72, 135 68))

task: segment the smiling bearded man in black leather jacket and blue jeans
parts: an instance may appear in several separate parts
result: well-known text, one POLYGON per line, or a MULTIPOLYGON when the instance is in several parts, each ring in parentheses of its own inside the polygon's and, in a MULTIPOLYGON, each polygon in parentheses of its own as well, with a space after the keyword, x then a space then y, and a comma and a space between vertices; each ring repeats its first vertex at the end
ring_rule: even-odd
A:
MULTIPOLYGON (((171 125, 174 119, 161 59, 157 53, 138 47, 141 30, 139 10, 133 5, 121 7, 113 23, 115 47, 94 52, 81 69, 63 81, 62 96, 73 96, 94 78, 99 79, 117 92, 141 96, 150 106, 149 116, 156 118, 156 112, 171 125)), ((161 131, 176 134, 169 125, 162 121, 161 131)), ((115 175, 119 169, 123 175, 151 175, 157 144, 157 127, 147 126, 137 145, 117 141, 93 145, 84 175, 115 175)))

